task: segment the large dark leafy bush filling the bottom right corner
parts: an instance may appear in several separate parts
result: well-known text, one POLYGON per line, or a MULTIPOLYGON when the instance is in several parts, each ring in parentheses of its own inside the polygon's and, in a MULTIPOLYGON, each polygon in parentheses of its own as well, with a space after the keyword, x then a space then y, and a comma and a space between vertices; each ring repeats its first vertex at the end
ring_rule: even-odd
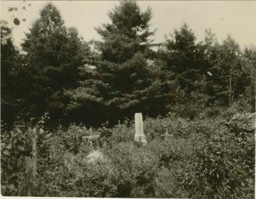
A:
POLYGON ((254 136, 237 137, 225 127, 205 136, 195 149, 197 161, 191 162, 185 172, 187 180, 182 182, 189 197, 250 198, 254 168, 248 163, 254 165, 254 136))

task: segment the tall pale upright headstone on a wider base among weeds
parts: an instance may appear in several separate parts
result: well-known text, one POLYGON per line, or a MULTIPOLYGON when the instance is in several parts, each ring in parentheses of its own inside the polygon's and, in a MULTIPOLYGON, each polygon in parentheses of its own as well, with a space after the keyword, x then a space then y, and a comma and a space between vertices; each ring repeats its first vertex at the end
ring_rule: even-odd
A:
POLYGON ((135 142, 142 143, 142 145, 146 145, 147 142, 145 140, 145 135, 143 132, 143 119, 141 113, 135 114, 135 142))

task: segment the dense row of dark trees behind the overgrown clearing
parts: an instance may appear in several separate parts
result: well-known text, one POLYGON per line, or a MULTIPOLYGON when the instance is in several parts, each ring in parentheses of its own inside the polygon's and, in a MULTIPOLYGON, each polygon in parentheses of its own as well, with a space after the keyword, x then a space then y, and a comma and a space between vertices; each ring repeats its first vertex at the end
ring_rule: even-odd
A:
POLYGON ((49 127, 97 127, 136 112, 189 119, 214 117, 230 106, 255 112, 255 46, 241 50, 229 35, 218 42, 210 30, 198 41, 187 24, 156 44, 151 9, 143 12, 134 1, 120 2, 108 15, 111 23, 96 28, 102 39, 87 42, 47 4, 20 51, 11 29, 1 26, 1 120, 7 126, 37 122, 45 113, 49 127))

